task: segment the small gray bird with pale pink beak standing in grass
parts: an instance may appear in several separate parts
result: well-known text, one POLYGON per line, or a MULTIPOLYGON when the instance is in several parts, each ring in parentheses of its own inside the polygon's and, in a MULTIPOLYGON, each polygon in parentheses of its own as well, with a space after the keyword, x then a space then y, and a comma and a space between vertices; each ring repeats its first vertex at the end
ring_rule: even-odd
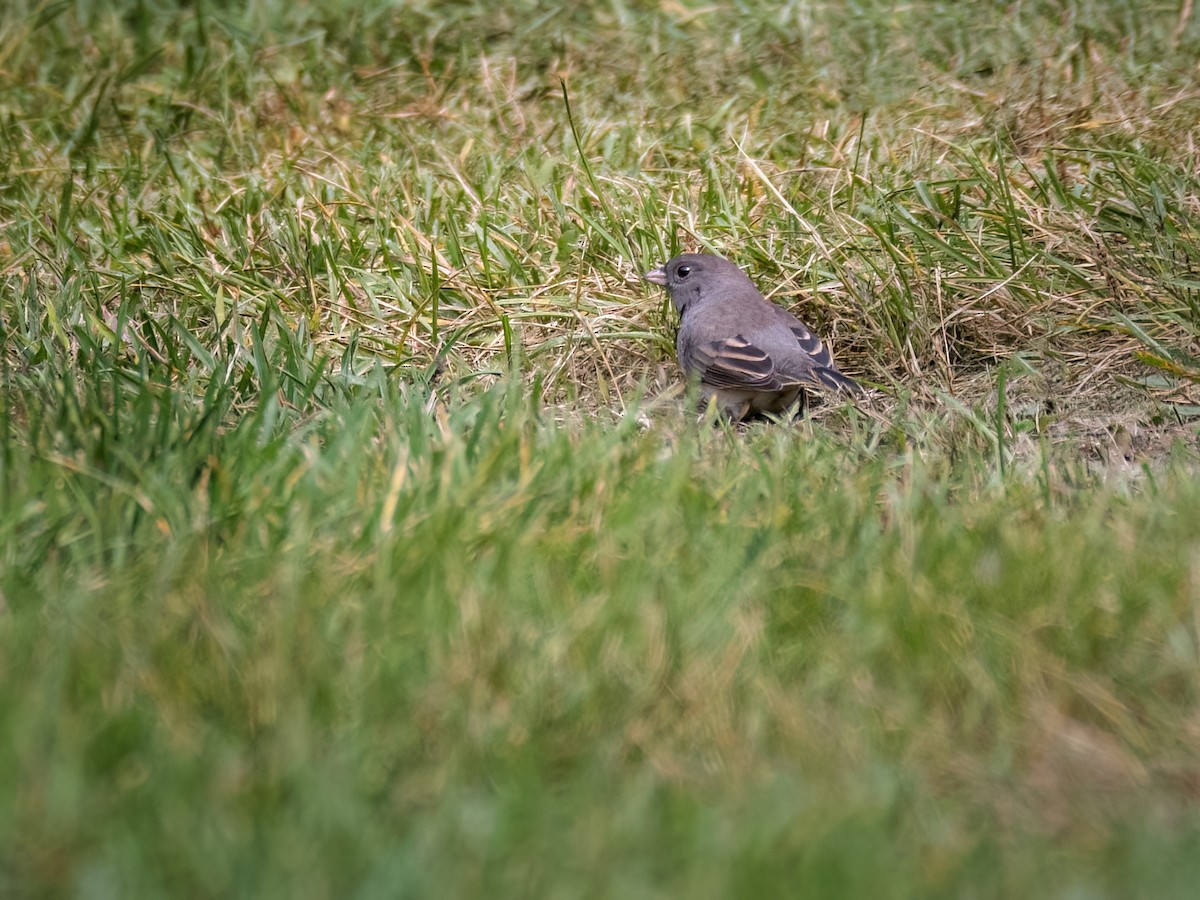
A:
POLYGON ((679 366, 733 421, 797 403, 803 414, 806 386, 862 394, 821 338, 728 259, 683 253, 642 277, 665 287, 679 312, 679 366))

